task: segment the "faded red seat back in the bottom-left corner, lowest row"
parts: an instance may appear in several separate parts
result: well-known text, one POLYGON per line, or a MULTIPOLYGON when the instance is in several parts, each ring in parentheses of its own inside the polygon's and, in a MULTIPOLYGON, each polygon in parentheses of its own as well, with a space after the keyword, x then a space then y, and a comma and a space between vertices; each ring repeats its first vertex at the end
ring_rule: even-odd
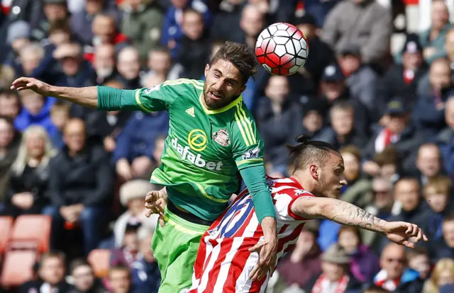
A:
POLYGON ((38 253, 34 250, 7 251, 1 273, 1 285, 17 287, 31 280, 37 256, 38 253))

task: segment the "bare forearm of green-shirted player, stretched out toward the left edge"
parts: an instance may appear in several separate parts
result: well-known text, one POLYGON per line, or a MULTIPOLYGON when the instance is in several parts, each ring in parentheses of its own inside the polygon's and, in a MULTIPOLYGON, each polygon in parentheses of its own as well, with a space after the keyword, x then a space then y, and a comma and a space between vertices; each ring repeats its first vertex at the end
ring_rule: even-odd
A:
POLYGON ((96 86, 84 88, 50 86, 49 92, 49 96, 67 100, 84 107, 96 108, 98 106, 98 91, 96 86))

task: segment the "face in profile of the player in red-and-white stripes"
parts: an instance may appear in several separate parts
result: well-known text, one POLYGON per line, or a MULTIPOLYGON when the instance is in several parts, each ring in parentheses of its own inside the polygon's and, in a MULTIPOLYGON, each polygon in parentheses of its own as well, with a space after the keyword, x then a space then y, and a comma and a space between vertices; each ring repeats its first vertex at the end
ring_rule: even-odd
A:
POLYGON ((345 180, 343 159, 341 154, 329 152, 328 158, 323 163, 323 168, 319 170, 319 184, 316 193, 325 197, 338 198, 341 196, 345 180))

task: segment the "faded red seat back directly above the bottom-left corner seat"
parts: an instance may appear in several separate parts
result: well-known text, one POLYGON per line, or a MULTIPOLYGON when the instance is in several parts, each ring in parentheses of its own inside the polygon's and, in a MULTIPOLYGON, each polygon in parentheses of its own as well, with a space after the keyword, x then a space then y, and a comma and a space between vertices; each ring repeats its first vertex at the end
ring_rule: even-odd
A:
POLYGON ((9 244, 11 248, 36 248, 38 253, 49 251, 51 217, 24 214, 16 219, 9 244))

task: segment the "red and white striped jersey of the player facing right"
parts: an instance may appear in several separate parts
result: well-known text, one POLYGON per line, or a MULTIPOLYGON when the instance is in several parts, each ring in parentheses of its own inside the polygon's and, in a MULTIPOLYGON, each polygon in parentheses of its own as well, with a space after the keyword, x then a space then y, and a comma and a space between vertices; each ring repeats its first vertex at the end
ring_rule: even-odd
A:
MULTIPOLYGON (((293 203, 299 197, 314 195, 294 178, 268 178, 267 183, 276 210, 279 261, 294 247, 304 222, 309 220, 292 212, 293 203)), ((252 197, 243 189, 202 236, 189 293, 265 292, 269 276, 254 282, 249 279, 258 253, 250 253, 248 249, 262 239, 252 197)))

